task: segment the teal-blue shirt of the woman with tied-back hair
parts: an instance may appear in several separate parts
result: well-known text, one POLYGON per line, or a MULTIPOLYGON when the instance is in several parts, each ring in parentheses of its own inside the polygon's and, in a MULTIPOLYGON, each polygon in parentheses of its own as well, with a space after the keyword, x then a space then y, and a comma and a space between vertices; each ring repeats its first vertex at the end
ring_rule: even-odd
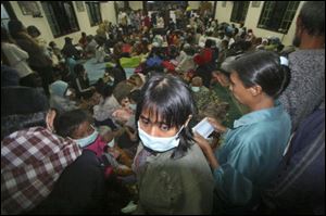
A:
POLYGON ((275 175, 290 132, 290 116, 278 104, 235 120, 215 153, 221 165, 214 170, 218 198, 231 206, 253 204, 275 175))

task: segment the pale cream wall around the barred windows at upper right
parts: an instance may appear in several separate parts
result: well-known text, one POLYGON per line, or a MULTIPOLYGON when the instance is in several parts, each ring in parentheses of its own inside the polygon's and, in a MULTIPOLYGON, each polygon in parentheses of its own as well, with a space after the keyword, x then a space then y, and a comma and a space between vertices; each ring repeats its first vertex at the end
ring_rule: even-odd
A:
MULTIPOLYGON (((227 1, 226 8, 222 8, 222 3, 223 3, 222 1, 217 2, 215 18, 218 20, 218 23, 223 23, 223 22, 233 23, 233 22, 230 22, 230 15, 231 15, 233 5, 234 5, 233 1, 227 1)), ((292 24, 291 24, 287 35, 258 28, 256 26, 259 23, 261 12, 263 10, 264 2, 261 1, 261 4, 259 8, 252 8, 251 3, 252 2, 250 2, 250 4, 249 4, 247 17, 244 21, 244 26, 247 27, 247 29, 251 28, 256 37, 268 37, 268 36, 279 37, 281 42, 285 46, 290 46, 292 43, 292 39, 293 39, 294 33, 296 33, 296 20, 302 8, 303 1, 300 1, 297 13, 293 17, 292 24)), ((239 24, 237 24, 237 23, 235 23, 235 24, 236 24, 236 26, 239 26, 239 24)))

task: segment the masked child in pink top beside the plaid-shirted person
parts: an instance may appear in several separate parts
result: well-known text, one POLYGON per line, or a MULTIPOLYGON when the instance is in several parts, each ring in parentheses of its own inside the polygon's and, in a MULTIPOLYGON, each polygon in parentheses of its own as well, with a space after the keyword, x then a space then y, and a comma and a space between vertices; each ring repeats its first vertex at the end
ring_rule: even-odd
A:
POLYGON ((117 176, 131 175, 133 160, 114 143, 114 138, 121 136, 122 131, 112 131, 108 126, 98 130, 91 123, 92 118, 85 111, 78 109, 58 116, 54 128, 61 137, 72 138, 80 148, 95 152, 100 160, 106 158, 103 161, 106 165, 106 176, 111 174, 112 169, 117 176))

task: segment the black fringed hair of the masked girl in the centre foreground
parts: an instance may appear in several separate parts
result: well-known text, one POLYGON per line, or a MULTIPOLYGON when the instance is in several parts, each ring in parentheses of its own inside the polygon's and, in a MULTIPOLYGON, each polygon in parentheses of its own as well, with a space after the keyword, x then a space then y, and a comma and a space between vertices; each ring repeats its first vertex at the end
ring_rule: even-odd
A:
MULTIPOLYGON (((141 99, 137 104, 136 122, 142 110, 160 116, 170 127, 178 129, 187 122, 189 115, 196 113, 196 106, 189 86, 178 77, 168 74, 153 74, 141 89, 141 99)), ((179 145, 174 150, 172 158, 183 157, 191 145, 192 131, 189 124, 180 132, 179 145)))

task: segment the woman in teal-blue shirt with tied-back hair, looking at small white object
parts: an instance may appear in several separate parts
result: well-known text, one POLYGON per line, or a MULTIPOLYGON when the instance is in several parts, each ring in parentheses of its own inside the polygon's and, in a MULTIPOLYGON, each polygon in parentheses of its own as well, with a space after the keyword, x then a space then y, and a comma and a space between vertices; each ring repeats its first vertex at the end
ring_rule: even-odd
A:
POLYGON ((230 90, 249 113, 235 120, 233 129, 209 119, 223 134, 216 152, 196 135, 214 173, 218 196, 214 213, 252 211, 273 179, 291 132, 290 117, 276 100, 289 73, 288 61, 267 51, 248 53, 231 64, 230 90))

